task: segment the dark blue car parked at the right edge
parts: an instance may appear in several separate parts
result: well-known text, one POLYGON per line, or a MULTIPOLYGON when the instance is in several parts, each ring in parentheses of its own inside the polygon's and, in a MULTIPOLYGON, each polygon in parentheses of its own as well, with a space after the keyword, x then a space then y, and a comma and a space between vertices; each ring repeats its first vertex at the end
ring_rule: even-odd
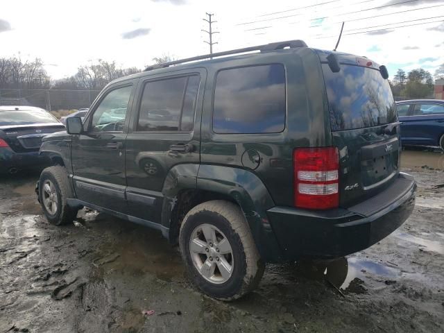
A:
POLYGON ((444 150, 444 100, 412 99, 396 104, 404 146, 444 150))

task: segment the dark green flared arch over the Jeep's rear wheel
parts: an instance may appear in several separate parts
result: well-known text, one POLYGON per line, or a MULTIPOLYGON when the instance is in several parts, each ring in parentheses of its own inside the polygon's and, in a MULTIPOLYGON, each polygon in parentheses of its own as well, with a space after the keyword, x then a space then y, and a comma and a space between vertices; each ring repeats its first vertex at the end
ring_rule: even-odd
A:
POLYGON ((266 210, 274 206, 273 199, 253 172, 215 165, 192 164, 195 169, 191 164, 183 165, 188 167, 171 169, 162 191, 162 225, 169 230, 164 236, 171 244, 177 243, 180 223, 191 208, 210 200, 227 200, 239 205, 244 213, 261 257, 267 261, 282 257, 266 215, 266 210))

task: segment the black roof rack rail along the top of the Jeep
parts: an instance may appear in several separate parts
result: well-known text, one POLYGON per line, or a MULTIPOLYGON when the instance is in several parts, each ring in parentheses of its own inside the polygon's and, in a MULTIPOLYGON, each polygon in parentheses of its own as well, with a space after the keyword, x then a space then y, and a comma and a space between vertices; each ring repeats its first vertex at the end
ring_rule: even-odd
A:
POLYGON ((287 40, 285 42, 275 42, 270 44, 264 44, 264 45, 258 45, 258 46, 250 46, 245 47, 244 49, 235 49, 230 51, 223 51, 223 52, 217 52, 212 54, 205 54, 203 56, 196 56, 191 58, 185 58, 181 60, 173 60, 169 62, 164 62, 163 64, 159 65, 152 65, 146 67, 144 71, 152 71, 153 69, 160 69, 160 68, 166 68, 172 65, 178 65, 182 64, 184 62, 190 62, 194 60, 203 60, 207 58, 216 58, 216 57, 222 57, 222 56, 229 56, 230 54, 237 54, 237 53, 246 53, 251 51, 273 51, 273 50, 279 50, 279 49, 285 49, 289 47, 290 49, 296 48, 296 47, 307 47, 307 44, 303 40, 287 40))

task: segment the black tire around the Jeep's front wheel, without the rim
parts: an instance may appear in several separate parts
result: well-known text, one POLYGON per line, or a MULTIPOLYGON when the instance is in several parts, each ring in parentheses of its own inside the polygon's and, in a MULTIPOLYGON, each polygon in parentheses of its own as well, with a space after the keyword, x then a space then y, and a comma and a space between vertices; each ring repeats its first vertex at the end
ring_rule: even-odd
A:
POLYGON ((73 192, 65 167, 55 166, 44 169, 40 175, 39 180, 39 201, 42 206, 46 219, 51 224, 63 225, 72 223, 76 218, 78 209, 69 207, 67 205, 67 198, 73 198, 73 192), (56 189, 56 203, 57 208, 54 214, 51 214, 44 205, 44 184, 49 180, 56 189))

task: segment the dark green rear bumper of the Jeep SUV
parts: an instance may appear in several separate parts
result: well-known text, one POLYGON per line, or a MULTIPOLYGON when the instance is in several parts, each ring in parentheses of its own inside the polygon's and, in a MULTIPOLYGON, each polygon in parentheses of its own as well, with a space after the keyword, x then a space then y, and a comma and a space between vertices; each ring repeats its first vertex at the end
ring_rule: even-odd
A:
POLYGON ((416 183, 400 173, 370 200, 325 212, 273 207, 268 218, 284 259, 341 257, 364 250, 400 227, 415 205, 416 183))

